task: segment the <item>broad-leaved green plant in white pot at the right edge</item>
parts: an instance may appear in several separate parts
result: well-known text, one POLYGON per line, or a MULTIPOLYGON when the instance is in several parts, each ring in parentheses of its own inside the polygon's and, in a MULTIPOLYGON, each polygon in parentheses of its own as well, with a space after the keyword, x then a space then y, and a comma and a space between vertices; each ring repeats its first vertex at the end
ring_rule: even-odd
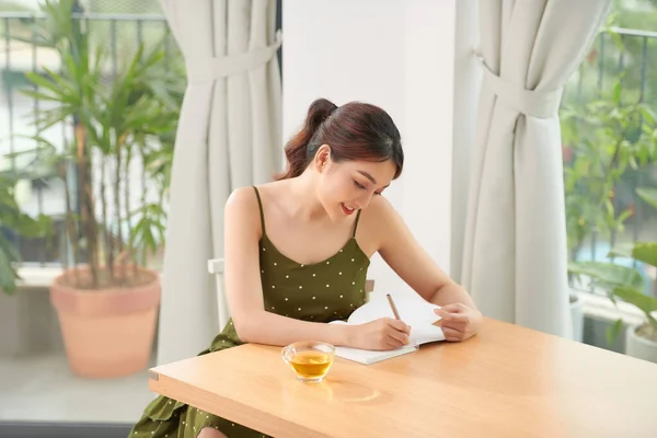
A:
MULTIPOLYGON (((639 188, 637 194, 646 204, 657 208, 657 189, 639 188)), ((657 267, 657 242, 635 242, 631 249, 616 249, 610 255, 629 256, 657 267)), ((587 276, 593 285, 606 289, 615 304, 621 299, 643 312, 644 322, 627 327, 625 332, 625 353, 657 362, 657 299, 646 293, 641 274, 635 268, 604 262, 573 262, 569 270, 587 276)), ((615 339, 622 327, 623 321, 619 319, 608 333, 610 342, 615 339)))

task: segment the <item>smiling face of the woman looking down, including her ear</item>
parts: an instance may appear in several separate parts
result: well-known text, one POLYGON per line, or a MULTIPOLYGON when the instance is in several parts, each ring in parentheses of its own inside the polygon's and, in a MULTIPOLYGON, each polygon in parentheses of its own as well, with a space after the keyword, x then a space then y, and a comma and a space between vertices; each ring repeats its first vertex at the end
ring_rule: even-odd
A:
POLYGON ((367 208, 372 196, 381 195, 394 177, 396 166, 392 160, 336 163, 330 152, 324 145, 315 155, 318 197, 331 219, 344 220, 367 208))

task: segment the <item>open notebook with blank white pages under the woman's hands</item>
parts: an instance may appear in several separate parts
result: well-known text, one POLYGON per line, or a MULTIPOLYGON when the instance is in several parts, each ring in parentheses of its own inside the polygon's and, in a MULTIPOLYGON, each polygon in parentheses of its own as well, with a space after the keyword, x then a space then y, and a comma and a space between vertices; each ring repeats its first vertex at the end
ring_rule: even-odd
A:
MULTIPOLYGON (((335 349, 336 356, 369 365, 415 351, 422 344, 445 341, 442 328, 434 324, 440 320, 440 316, 434 313, 434 309, 439 308, 438 306, 408 292, 391 293, 391 296, 397 308, 400 319, 411 325, 408 345, 385 351, 338 346, 335 349)), ((347 322, 333 321, 331 324, 362 324, 379 318, 394 318, 394 313, 385 295, 372 293, 370 301, 356 309, 347 322)))

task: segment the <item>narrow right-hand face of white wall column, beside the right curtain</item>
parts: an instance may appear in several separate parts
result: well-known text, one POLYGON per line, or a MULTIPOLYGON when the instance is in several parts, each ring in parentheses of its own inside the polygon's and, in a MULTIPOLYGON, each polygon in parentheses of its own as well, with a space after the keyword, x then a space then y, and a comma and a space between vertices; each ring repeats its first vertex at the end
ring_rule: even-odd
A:
POLYGON ((405 11, 407 157, 403 216, 442 269, 451 266, 456 1, 412 0, 405 11))

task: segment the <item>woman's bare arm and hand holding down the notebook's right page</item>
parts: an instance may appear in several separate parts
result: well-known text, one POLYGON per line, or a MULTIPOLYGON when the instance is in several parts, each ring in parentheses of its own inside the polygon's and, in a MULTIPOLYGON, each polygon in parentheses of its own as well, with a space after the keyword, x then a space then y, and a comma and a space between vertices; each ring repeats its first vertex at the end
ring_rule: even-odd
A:
POLYGON ((372 199, 369 208, 377 219, 379 254, 425 300, 442 307, 436 313, 443 319, 448 341, 463 341, 475 334, 482 314, 465 289, 434 263, 385 198, 372 199))

